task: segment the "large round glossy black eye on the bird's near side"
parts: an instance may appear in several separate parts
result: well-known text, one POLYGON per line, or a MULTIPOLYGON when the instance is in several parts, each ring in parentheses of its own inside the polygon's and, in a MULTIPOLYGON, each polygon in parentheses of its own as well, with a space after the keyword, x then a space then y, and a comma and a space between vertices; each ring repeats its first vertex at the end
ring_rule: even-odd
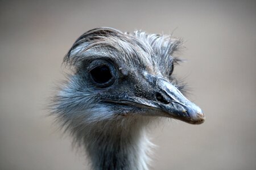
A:
POLYGON ((98 66, 90 71, 93 80, 96 83, 106 83, 112 78, 112 74, 108 66, 98 66))

